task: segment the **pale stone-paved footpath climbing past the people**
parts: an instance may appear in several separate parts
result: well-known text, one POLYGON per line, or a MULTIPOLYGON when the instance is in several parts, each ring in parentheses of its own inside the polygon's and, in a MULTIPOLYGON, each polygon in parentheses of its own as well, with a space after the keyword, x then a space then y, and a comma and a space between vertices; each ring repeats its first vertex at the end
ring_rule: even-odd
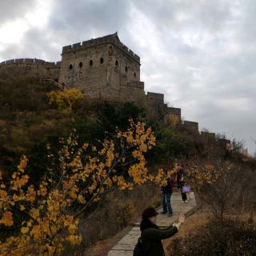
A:
MULTIPOLYGON (((191 192, 188 197, 187 203, 182 203, 181 194, 174 192, 170 198, 171 206, 174 210, 173 217, 167 217, 166 214, 158 214, 157 225, 160 227, 167 227, 174 223, 178 218, 178 213, 182 210, 186 217, 194 213, 194 207, 196 206, 194 193, 191 192)), ((161 212, 162 208, 158 209, 161 212)), ((130 230, 107 254, 107 256, 132 256, 134 246, 141 235, 139 230, 139 222, 134 224, 134 228, 130 230)))

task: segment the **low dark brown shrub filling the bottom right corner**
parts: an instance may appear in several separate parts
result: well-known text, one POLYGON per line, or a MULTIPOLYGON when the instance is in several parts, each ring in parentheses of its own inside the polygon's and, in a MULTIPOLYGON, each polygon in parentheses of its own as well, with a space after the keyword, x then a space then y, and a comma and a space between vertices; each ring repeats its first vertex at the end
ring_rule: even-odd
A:
POLYGON ((214 220, 194 230, 186 238, 176 238, 168 246, 167 255, 256 255, 256 223, 242 220, 214 220))

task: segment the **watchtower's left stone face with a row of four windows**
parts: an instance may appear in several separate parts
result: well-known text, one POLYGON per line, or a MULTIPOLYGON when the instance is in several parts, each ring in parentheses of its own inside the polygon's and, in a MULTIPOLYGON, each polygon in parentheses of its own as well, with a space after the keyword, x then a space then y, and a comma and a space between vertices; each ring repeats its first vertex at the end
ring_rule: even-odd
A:
POLYGON ((76 87, 90 97, 99 97, 103 89, 108 89, 110 58, 107 48, 102 45, 80 50, 74 46, 74 51, 66 51, 63 47, 59 82, 76 87))

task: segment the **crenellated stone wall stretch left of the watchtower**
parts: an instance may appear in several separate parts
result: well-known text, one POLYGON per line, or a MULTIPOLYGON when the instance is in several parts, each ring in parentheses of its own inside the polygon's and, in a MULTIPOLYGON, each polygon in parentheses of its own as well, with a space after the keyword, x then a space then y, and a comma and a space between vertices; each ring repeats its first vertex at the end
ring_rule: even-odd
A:
POLYGON ((0 63, 0 75, 24 78, 53 78, 58 80, 61 62, 45 62, 37 58, 16 58, 0 63))

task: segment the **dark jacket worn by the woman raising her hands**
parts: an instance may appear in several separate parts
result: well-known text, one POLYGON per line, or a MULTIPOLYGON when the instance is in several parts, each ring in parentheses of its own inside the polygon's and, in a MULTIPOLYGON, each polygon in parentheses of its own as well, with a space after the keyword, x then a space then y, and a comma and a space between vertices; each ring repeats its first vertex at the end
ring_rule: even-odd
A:
POLYGON ((169 226, 166 229, 159 229, 158 226, 142 230, 142 248, 145 256, 164 256, 162 239, 170 238, 178 232, 176 226, 169 226))

